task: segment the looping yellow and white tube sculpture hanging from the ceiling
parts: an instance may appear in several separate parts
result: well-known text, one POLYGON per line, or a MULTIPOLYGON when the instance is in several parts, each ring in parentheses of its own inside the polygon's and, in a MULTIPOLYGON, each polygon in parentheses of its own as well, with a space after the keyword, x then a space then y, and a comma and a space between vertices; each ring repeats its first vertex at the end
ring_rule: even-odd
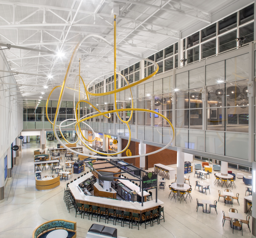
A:
MULTIPOLYGON (((140 57, 140 56, 136 56, 136 55, 131 54, 131 53, 129 53, 129 52, 126 52, 126 51, 123 51, 123 50, 121 50, 121 49, 118 49, 118 51, 121 51, 121 52, 123 52, 123 53, 125 53, 125 54, 128 54, 128 55, 130 55, 130 56, 133 56, 134 58, 148 61, 148 62, 150 62, 150 63, 152 63, 152 64, 154 64, 154 65, 156 66, 156 70, 155 70, 152 74, 150 74, 149 76, 145 77, 144 79, 141 79, 141 80, 139 80, 139 81, 137 81, 137 82, 134 82, 132 85, 130 85, 130 84, 128 83, 128 81, 126 80, 126 78, 125 78, 122 74, 119 74, 119 73, 116 72, 116 49, 117 49, 117 48, 116 48, 116 15, 114 15, 114 45, 111 44, 109 41, 107 41, 105 38, 103 38, 103 37, 101 37, 101 36, 99 36, 99 35, 88 34, 87 36, 83 37, 83 39, 81 39, 81 41, 79 41, 79 43, 77 44, 77 46, 76 46, 76 48, 75 48, 75 50, 74 50, 74 52, 73 52, 73 54, 72 54, 72 56, 71 56, 71 59, 70 59, 69 65, 68 65, 68 69, 67 69, 67 72, 66 72, 66 75, 65 75, 65 78, 64 78, 64 81, 63 81, 62 86, 56 86, 56 87, 54 87, 54 88, 52 89, 52 91, 50 92, 48 98, 47 98, 47 102, 46 102, 46 116, 47 116, 47 119, 48 119, 48 121, 53 125, 54 134, 55 134, 55 137, 57 138, 57 140, 60 142, 60 144, 61 144, 64 148, 70 150, 71 152, 75 152, 76 154, 81 154, 81 155, 85 155, 85 156, 93 157, 93 158, 102 158, 101 156, 90 155, 90 154, 83 154, 83 153, 76 152, 76 151, 70 149, 69 147, 67 147, 65 144, 62 143, 62 141, 60 140, 60 138, 59 138, 58 135, 57 135, 56 128, 59 128, 59 129, 60 129, 60 134, 62 135, 63 139, 64 139, 68 144, 73 144, 74 142, 70 143, 70 142, 68 142, 68 141, 65 139, 64 135, 62 134, 61 127, 66 127, 66 126, 70 126, 70 125, 72 125, 72 124, 75 124, 75 129, 76 129, 76 133, 77 133, 77 135, 78 135, 78 138, 81 140, 81 142, 82 142, 88 149, 90 149, 91 151, 93 151, 93 152, 95 152, 95 153, 98 153, 98 154, 109 155, 109 154, 106 154, 106 153, 103 153, 103 152, 99 152, 99 151, 96 151, 96 150, 92 149, 91 147, 89 147, 89 146, 86 144, 86 142, 85 142, 83 139, 85 139, 87 142, 93 142, 93 141, 96 139, 95 132, 94 132, 93 129, 92 129, 88 124, 86 124, 84 121, 89 120, 89 119, 91 119, 91 118, 93 118, 93 117, 101 116, 101 115, 105 116, 106 118, 110 118, 110 113, 116 113, 116 116, 119 118, 119 120, 120 120, 122 123, 126 124, 127 129, 129 130, 129 140, 128 140, 127 146, 126 146, 122 151, 119 151, 119 152, 116 152, 116 153, 113 153, 113 154, 111 153, 111 155, 117 155, 117 154, 120 154, 120 153, 126 151, 126 149, 129 147, 129 144, 130 144, 130 141, 131 141, 131 131, 130 131, 130 127, 129 127, 128 123, 129 123, 130 120, 132 119, 132 113, 130 114, 129 120, 128 120, 128 121, 124 121, 124 120, 122 120, 122 119, 120 118, 120 116, 119 116, 119 114, 118 114, 119 111, 131 111, 131 112, 133 112, 133 111, 145 111, 145 112, 150 112, 150 113, 152 113, 152 114, 157 114, 158 116, 163 117, 163 119, 165 119, 165 120, 170 124, 170 126, 171 126, 171 128, 172 128, 172 130, 173 130, 172 140, 170 140, 170 142, 169 142, 165 147, 163 147, 163 148, 161 148, 161 149, 159 149, 159 150, 156 150, 156 151, 154 151, 154 152, 148 153, 148 154, 134 155, 134 156, 129 156, 129 157, 128 157, 128 156, 127 156, 127 157, 118 157, 119 159, 135 158, 135 157, 141 157, 141 156, 147 156, 147 155, 150 155, 150 154, 155 154, 155 153, 157 153, 157 152, 160 152, 160 151, 166 149, 166 148, 169 147, 170 144, 173 142, 174 128, 173 128, 173 125, 171 124, 171 122, 168 120, 168 118, 166 118, 165 116, 163 116, 162 114, 160 114, 160 113, 158 113, 158 112, 156 112, 156 111, 147 110, 147 109, 136 109, 136 108, 133 108, 133 97, 132 97, 131 87, 134 86, 134 85, 140 84, 140 83, 146 81, 147 79, 150 79, 152 76, 154 76, 154 75, 157 73, 158 69, 159 69, 157 63, 155 63, 155 62, 152 61, 152 60, 145 59, 145 58, 142 58, 142 57, 140 57), (74 89, 71 89, 71 88, 68 88, 68 87, 65 86, 65 85, 66 85, 66 82, 67 82, 67 80, 68 80, 68 75, 69 75, 71 66, 72 66, 72 64, 73 64, 73 61, 74 61, 75 56, 76 56, 76 53, 77 53, 77 50, 79 49, 79 47, 80 47, 80 45, 83 43, 83 41, 85 41, 85 40, 86 40, 87 38, 89 38, 89 37, 97 37, 97 38, 100 38, 101 40, 105 41, 107 44, 109 44, 110 46, 112 46, 112 47, 114 48, 114 90, 113 90, 113 91, 109 91, 109 92, 106 92, 106 93, 91 93, 91 92, 89 92, 89 91, 88 91, 88 88, 90 87, 90 85, 91 85, 94 81, 96 81, 98 78, 100 78, 101 76, 104 76, 104 75, 101 75, 101 76, 99 76, 99 77, 93 79, 93 80, 87 85, 87 87, 86 87, 85 84, 84 84, 83 78, 82 78, 81 75, 80 75, 80 60, 79 60, 79 75, 77 75, 77 76, 76 76, 76 79, 75 79, 75 88, 74 88, 74 89), (127 86, 124 86, 124 87, 122 87, 122 88, 116 89, 116 74, 118 74, 118 75, 120 75, 122 78, 124 78, 124 80, 127 82, 127 86), (78 90, 76 90, 76 83, 77 83, 77 79, 78 79, 78 78, 79 78, 79 82, 78 82, 78 83, 79 83, 79 86, 78 86, 78 90), (82 92, 80 91, 80 80, 81 80, 82 83, 83 83, 83 86, 84 86, 84 89, 85 89, 85 93, 82 93, 82 92), (58 105, 57 105, 57 109, 56 109, 56 114, 55 114, 54 122, 52 123, 52 122, 50 121, 49 117, 48 117, 47 107, 48 107, 48 102, 49 102, 49 99, 50 99, 50 96, 51 96, 52 92, 53 92, 56 88, 58 88, 58 87, 61 87, 61 91, 60 91, 60 97, 59 97, 59 100, 58 100, 58 105), (60 125, 57 125, 57 118, 58 118, 58 114, 59 114, 59 110, 60 110, 60 104, 61 104, 61 101, 62 101, 62 98, 63 98, 63 94, 64 94, 64 90, 65 90, 65 89, 70 89, 70 90, 73 90, 73 91, 74 91, 73 103, 74 103, 75 119, 66 119, 66 120, 63 121, 63 122, 67 122, 67 121, 75 121, 75 122, 70 123, 70 124, 68 124, 68 125, 63 125, 63 126, 62 126, 62 123, 63 123, 63 122, 61 122, 60 125), (132 107, 129 108, 129 109, 116 109, 116 108, 117 108, 117 107, 116 107, 116 93, 117 93, 117 92, 120 92, 120 91, 124 91, 125 89, 130 89, 131 97, 132 97, 132 107), (78 93, 79 93, 79 101, 77 102, 76 105, 75 105, 75 92, 78 92, 78 93), (92 95, 92 96, 104 96, 104 95, 108 95, 108 94, 114 94, 114 110, 111 110, 111 111, 99 111, 99 109, 97 109, 95 106, 93 106, 93 105, 92 105, 91 103, 89 103, 88 101, 80 100, 80 93, 84 94, 88 100, 89 100, 88 94, 90 94, 90 95, 92 95), (96 111, 95 111, 95 112, 92 112, 92 113, 90 113, 90 114, 87 114, 87 115, 85 115, 85 116, 83 116, 83 117, 80 118, 80 103, 81 103, 81 102, 84 102, 84 103, 86 103, 86 104, 89 104, 89 105, 90 105, 91 107, 93 107, 96 111), (93 115, 93 114, 94 114, 94 115, 93 115), (107 114, 108 114, 108 115, 107 115, 107 114), (88 126, 88 127, 91 129, 91 131, 92 131, 92 133, 93 133, 93 139, 92 139, 92 140, 88 140, 88 139, 86 139, 86 138, 83 136, 83 133, 82 133, 81 128, 80 128, 80 123, 86 124, 86 126, 88 126), (81 138, 81 137, 79 136, 79 132, 81 133, 81 135, 82 135, 83 138, 81 138)), ((107 73, 107 74, 109 74, 109 73, 107 73)), ((76 143, 76 142, 75 142, 75 143, 76 143)))

